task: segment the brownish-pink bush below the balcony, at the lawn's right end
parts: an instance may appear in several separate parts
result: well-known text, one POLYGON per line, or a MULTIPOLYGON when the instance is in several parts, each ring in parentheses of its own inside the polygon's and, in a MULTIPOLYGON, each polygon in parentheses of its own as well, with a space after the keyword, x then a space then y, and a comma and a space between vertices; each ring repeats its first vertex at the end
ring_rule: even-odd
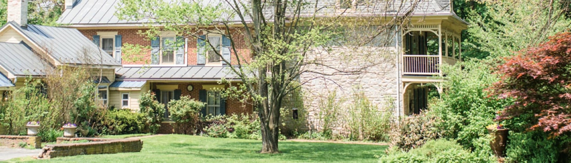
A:
POLYGON ((425 113, 402 117, 399 124, 395 124, 391 131, 391 147, 408 151, 418 148, 429 140, 441 136, 437 125, 441 122, 439 117, 428 116, 425 113))

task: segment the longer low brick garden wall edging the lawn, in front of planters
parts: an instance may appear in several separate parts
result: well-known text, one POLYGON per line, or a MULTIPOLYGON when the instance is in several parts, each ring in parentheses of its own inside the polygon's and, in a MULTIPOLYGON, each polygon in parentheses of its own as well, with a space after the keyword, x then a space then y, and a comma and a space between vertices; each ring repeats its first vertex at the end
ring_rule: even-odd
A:
MULTIPOLYGON (((100 139, 100 138, 99 138, 100 139)), ((59 141, 59 140, 58 140, 59 141)), ((38 158, 76 156, 82 154, 110 154, 122 152, 140 152, 143 141, 139 139, 121 139, 93 141, 69 144, 46 145, 38 158)))

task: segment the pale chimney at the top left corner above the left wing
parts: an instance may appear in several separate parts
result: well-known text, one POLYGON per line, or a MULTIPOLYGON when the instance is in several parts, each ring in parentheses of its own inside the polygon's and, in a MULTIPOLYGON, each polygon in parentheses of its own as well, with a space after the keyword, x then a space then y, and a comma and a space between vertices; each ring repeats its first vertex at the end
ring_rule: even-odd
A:
POLYGON ((8 0, 8 9, 6 10, 8 17, 6 21, 14 21, 20 26, 27 26, 28 23, 28 1, 27 0, 8 0))

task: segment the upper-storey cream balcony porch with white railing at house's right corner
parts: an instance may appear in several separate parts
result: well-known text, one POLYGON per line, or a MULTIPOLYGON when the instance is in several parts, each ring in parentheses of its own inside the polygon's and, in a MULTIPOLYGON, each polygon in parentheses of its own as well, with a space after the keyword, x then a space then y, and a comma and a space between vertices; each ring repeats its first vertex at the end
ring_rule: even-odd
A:
POLYGON ((402 32, 403 76, 441 76, 443 64, 461 60, 460 31, 446 25, 414 25, 402 32))

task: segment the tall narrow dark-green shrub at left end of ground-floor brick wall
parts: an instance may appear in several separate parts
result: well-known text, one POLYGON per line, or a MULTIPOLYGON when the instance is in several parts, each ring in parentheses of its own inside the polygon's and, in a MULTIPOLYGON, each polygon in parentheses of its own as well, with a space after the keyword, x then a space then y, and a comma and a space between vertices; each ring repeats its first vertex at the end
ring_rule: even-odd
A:
POLYGON ((151 133, 159 132, 160 122, 164 120, 164 104, 156 100, 155 93, 141 93, 139 99, 140 113, 144 115, 143 122, 151 133))

